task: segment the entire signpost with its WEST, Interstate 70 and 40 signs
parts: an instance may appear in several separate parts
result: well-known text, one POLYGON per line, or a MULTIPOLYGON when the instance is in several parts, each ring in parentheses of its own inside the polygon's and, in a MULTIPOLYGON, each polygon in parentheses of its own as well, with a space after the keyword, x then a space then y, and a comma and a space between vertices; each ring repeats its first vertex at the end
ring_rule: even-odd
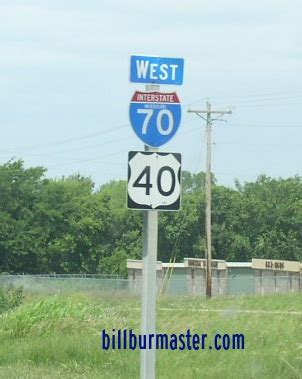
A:
MULTIPOLYGON (((159 84, 181 85, 183 67, 182 58, 131 56, 130 81, 150 83, 146 85, 148 93, 136 92, 130 104, 130 120, 136 135, 152 146, 145 145, 146 152, 157 152, 157 147, 168 142, 179 127, 181 108, 178 97, 176 93, 161 94, 159 84)), ((154 345, 149 349, 148 335, 156 333, 157 209, 179 209, 177 191, 180 194, 181 158, 180 154, 158 153, 154 155, 155 161, 146 164, 135 158, 138 154, 144 155, 129 153, 128 207, 144 209, 141 333, 147 336, 147 346, 141 350, 140 373, 141 379, 155 379, 156 351, 154 345), (159 167, 163 160, 166 162, 159 167)))

